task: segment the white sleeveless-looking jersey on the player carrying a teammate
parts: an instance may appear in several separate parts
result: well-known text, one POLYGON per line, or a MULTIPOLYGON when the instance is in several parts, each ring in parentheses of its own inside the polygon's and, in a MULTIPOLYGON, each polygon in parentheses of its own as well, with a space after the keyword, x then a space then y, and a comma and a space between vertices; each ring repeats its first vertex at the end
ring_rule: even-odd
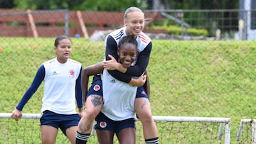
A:
POLYGON ((104 101, 102 113, 113 121, 134 118, 137 87, 115 79, 107 70, 103 71, 102 87, 104 101))

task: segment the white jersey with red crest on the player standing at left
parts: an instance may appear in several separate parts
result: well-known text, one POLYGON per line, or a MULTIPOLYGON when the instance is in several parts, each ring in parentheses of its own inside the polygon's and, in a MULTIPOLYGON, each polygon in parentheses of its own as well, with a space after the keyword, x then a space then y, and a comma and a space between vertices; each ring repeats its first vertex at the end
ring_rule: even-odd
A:
POLYGON ((64 64, 56 58, 43 63, 46 70, 41 111, 49 110, 61 114, 75 114, 75 82, 81 63, 68 59, 64 64))

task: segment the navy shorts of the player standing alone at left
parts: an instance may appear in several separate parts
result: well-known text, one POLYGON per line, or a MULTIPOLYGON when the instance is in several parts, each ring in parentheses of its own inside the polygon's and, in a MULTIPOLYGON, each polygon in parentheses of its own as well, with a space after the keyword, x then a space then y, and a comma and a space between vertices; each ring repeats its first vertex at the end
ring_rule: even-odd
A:
POLYGON ((53 126, 54 128, 60 128, 60 130, 66 135, 65 131, 71 126, 78 126, 80 116, 78 114, 58 114, 53 111, 43 111, 43 115, 40 118, 40 125, 53 126))

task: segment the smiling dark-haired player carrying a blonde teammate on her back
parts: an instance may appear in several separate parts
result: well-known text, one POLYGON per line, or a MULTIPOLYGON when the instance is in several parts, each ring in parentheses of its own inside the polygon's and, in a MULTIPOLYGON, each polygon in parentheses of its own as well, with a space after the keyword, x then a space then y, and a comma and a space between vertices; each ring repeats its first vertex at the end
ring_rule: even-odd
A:
MULTIPOLYGON (((123 67, 132 65, 137 55, 137 41, 132 35, 125 36, 120 40, 117 53, 119 55, 118 60, 123 67)), ((117 64, 116 61, 115 63, 117 64)), ((105 103, 96 118, 95 129, 99 143, 113 143, 114 133, 117 134, 121 144, 135 143, 134 100, 137 87, 114 79, 107 73, 107 70, 103 73, 102 80, 107 82, 105 86, 107 86, 108 91, 104 93, 105 103), (104 76, 104 74, 106 75, 104 76)), ((146 76, 134 80, 144 84, 146 76)), ((103 85, 103 89, 105 86, 103 85)), ((88 93, 90 94, 90 92, 94 92, 94 90, 88 93)))

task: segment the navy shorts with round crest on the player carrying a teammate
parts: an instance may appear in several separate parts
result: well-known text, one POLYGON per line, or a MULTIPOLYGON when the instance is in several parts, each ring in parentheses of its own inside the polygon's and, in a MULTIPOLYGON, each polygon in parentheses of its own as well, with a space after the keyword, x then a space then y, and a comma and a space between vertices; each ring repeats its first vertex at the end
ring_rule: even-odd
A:
POLYGON ((124 128, 135 128, 134 118, 128 118, 123 121, 113 121, 105 116, 104 113, 100 112, 95 120, 97 121, 95 130, 106 130, 119 133, 119 131, 122 131, 124 128))

